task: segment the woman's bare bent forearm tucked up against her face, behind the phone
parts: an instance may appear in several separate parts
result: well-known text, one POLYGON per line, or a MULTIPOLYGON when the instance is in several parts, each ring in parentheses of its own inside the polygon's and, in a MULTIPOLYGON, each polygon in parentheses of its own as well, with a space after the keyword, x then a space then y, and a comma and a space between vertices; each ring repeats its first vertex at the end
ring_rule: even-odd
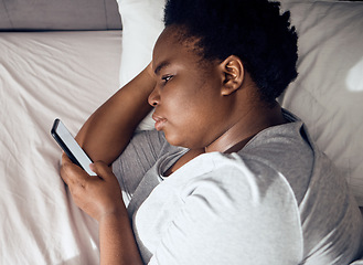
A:
POLYGON ((76 140, 93 161, 110 165, 122 152, 135 128, 151 110, 148 96, 156 85, 152 75, 149 64, 84 124, 76 140))

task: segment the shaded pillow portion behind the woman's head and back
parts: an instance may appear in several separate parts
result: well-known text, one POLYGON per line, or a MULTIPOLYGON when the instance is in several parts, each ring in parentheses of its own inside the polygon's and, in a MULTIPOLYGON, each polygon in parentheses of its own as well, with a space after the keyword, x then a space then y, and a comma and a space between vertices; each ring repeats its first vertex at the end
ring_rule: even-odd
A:
POLYGON ((299 76, 282 106, 307 124, 363 206, 363 3, 281 4, 299 34, 299 76))

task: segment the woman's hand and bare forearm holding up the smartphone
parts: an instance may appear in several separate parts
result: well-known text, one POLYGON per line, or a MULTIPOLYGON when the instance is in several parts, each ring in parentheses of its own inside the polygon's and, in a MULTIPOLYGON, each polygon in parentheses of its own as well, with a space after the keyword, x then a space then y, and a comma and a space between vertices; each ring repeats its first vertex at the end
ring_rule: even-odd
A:
POLYGON ((103 161, 93 163, 90 169, 96 177, 63 153, 61 177, 74 202, 98 221, 100 264, 142 264, 115 174, 103 161))

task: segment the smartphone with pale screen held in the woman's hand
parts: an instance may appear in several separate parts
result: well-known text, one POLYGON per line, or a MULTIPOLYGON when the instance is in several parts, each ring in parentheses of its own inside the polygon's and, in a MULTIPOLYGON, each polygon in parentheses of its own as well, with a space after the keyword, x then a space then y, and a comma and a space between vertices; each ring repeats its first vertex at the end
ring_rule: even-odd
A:
POLYGON ((72 162, 78 165, 88 174, 96 176, 96 173, 89 169, 89 163, 92 163, 90 158, 81 148, 78 142, 71 135, 70 130, 64 126, 64 124, 58 118, 54 120, 51 134, 55 139, 55 141, 61 146, 63 151, 72 160, 72 162))

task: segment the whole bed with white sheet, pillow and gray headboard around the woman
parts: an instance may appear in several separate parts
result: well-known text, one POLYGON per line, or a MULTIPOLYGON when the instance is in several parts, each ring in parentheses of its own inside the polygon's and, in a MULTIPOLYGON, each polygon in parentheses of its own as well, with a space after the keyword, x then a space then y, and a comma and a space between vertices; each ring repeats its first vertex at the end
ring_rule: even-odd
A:
MULTIPOLYGON (((0 264, 98 264, 97 223, 62 182, 50 129, 61 118, 75 135, 151 60, 162 29, 163 0, 62 2, 0 1, 0 264)), ((282 8, 300 59, 279 100, 308 124, 363 206, 363 3, 282 8)))

